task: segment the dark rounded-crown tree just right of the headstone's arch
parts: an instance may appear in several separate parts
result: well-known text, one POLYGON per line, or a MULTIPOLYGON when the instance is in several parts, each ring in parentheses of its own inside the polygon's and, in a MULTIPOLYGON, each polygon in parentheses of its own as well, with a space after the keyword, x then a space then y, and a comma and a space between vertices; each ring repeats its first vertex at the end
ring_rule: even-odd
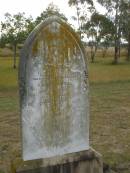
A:
MULTIPOLYGON (((105 15, 95 12, 91 16, 90 21, 84 24, 83 29, 84 33, 86 32, 89 40, 91 40, 89 42, 89 45, 91 47, 91 61, 94 62, 95 55, 101 41, 110 41, 112 38, 114 30, 113 23, 108 18, 106 18, 105 15)), ((106 49, 107 46, 108 45, 106 44, 106 49)))

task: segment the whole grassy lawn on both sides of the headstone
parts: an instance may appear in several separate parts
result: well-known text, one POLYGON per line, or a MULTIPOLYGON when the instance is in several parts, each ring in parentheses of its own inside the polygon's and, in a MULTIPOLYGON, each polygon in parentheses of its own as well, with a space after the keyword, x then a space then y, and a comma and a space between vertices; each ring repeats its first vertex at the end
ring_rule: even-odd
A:
MULTIPOLYGON (((18 164, 21 152, 17 69, 0 57, 0 173, 18 164)), ((115 169, 130 169, 130 63, 89 64, 90 143, 115 169)))

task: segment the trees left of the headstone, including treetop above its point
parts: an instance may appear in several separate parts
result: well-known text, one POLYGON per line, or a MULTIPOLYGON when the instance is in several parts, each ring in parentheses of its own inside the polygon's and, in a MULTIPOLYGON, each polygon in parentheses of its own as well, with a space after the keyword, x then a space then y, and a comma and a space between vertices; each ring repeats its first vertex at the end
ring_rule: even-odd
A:
POLYGON ((47 17, 57 15, 67 21, 64 14, 60 12, 57 6, 53 3, 49 4, 45 11, 43 11, 40 16, 35 20, 32 16, 26 17, 25 13, 18 13, 11 15, 9 13, 5 14, 4 22, 1 22, 1 38, 0 47, 3 48, 6 44, 10 44, 14 56, 13 56, 13 68, 16 68, 16 50, 18 44, 23 44, 30 32, 47 17))

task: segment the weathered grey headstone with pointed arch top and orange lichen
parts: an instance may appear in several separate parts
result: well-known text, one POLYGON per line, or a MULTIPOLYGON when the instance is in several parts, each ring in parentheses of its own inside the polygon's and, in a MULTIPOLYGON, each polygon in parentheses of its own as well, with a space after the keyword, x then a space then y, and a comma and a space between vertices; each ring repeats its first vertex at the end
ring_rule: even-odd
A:
POLYGON ((24 160, 89 148, 85 56, 77 34, 56 16, 26 40, 19 68, 24 160))

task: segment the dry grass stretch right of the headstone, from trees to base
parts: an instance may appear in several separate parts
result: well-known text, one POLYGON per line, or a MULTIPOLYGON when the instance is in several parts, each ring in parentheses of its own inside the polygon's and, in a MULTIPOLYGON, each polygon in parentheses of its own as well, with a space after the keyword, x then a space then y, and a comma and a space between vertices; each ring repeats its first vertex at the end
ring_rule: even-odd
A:
POLYGON ((90 139, 104 162, 117 166, 130 163, 130 63, 111 62, 98 59, 89 65, 90 139))

